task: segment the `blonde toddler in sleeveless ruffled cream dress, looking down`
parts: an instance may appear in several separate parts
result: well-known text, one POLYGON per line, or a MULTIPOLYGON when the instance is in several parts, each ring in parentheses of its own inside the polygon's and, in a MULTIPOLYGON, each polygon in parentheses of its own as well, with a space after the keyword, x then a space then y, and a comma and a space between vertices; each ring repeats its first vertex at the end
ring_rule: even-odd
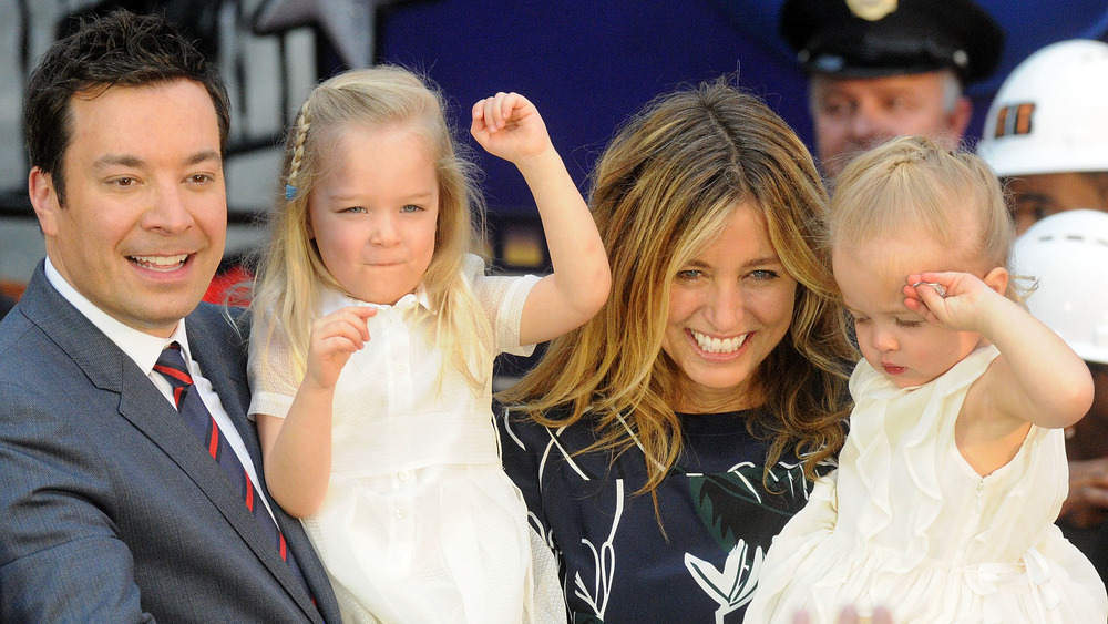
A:
POLYGON ((773 541, 746 622, 1104 623, 1096 571, 1053 524, 1084 362, 1019 304, 1014 229, 979 158, 895 140, 843 171, 832 266, 863 359, 839 470, 773 541))

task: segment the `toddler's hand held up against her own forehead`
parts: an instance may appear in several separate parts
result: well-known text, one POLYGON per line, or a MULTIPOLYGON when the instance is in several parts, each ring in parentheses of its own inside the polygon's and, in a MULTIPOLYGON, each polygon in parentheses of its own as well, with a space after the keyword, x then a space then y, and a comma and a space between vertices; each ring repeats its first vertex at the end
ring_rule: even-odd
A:
POLYGON ((903 294, 907 309, 927 323, 960 331, 976 330, 982 299, 996 295, 977 276, 955 272, 910 275, 903 294))

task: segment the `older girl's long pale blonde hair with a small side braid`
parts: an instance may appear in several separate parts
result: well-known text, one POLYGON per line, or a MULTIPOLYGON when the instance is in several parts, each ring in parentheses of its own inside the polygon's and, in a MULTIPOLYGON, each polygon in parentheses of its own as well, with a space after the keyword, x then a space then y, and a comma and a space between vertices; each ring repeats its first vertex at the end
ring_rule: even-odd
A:
POLYGON ((471 385, 479 388, 488 377, 491 362, 482 345, 492 330, 460 278, 465 253, 478 248, 483 235, 484 205, 474 190, 473 167, 459 154, 443 110, 438 91, 410 71, 389 65, 338 74, 317 85, 300 106, 286 142, 279 197, 269 217, 269 244, 258 262, 252 307, 265 331, 264 344, 274 331, 283 331, 301 374, 321 287, 345 291, 308 235, 308 198, 327 173, 324 154, 337 134, 368 125, 413 130, 434 160, 439 217, 434 253, 420 283, 435 311, 431 339, 471 385))

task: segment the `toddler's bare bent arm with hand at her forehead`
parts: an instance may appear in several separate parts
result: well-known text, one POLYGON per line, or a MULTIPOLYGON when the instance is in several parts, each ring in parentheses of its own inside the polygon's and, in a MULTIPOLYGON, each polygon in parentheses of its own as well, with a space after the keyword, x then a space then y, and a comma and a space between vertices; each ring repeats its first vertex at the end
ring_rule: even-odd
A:
POLYGON ((1001 351, 982 375, 977 405, 1020 422, 1068 427, 1092 405, 1092 377, 1054 330, 1001 294, 1007 280, 1004 268, 994 268, 984 282, 966 273, 910 275, 909 284, 941 284, 946 297, 929 286, 905 286, 905 305, 930 323, 977 331, 1001 351))

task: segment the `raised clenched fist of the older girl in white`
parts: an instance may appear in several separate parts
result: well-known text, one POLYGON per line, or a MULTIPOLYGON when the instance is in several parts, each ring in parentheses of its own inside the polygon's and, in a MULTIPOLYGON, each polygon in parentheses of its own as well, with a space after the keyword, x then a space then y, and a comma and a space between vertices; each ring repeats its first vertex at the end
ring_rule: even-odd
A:
POLYGON ((535 105, 519 93, 497 93, 473 104, 473 139, 494 156, 520 165, 553 150, 535 105))

